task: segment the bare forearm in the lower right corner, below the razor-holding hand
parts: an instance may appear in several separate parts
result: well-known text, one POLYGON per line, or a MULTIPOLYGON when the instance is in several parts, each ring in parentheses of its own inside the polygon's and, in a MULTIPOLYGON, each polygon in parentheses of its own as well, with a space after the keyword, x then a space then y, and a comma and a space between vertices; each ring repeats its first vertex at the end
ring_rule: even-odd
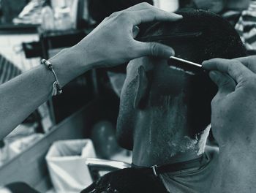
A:
POLYGON ((220 151, 219 162, 214 170, 211 193, 255 192, 256 154, 248 148, 235 147, 220 151))

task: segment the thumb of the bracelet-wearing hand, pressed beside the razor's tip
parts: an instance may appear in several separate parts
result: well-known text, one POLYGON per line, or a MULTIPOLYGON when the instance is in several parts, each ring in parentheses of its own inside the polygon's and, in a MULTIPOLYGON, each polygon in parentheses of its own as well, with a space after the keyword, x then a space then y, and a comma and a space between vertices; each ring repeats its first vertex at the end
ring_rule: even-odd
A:
POLYGON ((137 42, 135 45, 135 57, 142 56, 156 56, 161 58, 170 58, 174 56, 175 52, 173 48, 170 48, 167 45, 162 45, 156 42, 137 42))

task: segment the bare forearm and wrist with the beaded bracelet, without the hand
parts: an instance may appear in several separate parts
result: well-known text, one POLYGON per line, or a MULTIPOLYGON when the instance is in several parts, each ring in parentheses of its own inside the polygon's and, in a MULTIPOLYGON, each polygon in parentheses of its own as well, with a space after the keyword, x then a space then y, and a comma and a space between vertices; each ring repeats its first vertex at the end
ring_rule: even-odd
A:
MULTIPOLYGON (((68 49, 49 60, 61 86, 91 68, 86 61, 83 66, 72 62, 74 56, 74 50, 68 49)), ((54 81, 53 73, 39 65, 0 86, 0 139, 48 100, 54 81)))

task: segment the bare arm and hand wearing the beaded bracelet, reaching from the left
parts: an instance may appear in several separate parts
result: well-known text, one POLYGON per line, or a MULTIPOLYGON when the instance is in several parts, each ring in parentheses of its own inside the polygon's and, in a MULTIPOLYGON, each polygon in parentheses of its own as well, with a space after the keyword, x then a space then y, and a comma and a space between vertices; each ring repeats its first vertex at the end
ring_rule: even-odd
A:
MULTIPOLYGON (((77 45, 50 59, 61 86, 94 67, 115 67, 142 56, 170 58, 174 50, 155 42, 138 42, 140 23, 176 21, 181 15, 138 4, 106 18, 77 45), (146 15, 145 12, 150 11, 146 15)), ((0 140, 50 96, 53 75, 38 67, 0 86, 0 140)))

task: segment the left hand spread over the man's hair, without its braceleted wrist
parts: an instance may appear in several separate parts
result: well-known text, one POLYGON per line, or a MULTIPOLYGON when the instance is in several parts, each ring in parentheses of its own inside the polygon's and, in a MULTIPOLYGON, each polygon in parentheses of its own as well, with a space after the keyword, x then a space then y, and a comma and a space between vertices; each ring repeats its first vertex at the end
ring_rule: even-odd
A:
POLYGON ((138 24, 165 20, 175 21, 181 15, 168 13, 147 3, 137 4, 127 10, 115 12, 102 21, 94 31, 74 48, 79 61, 88 61, 93 67, 113 67, 141 56, 169 58, 174 51, 154 42, 138 42, 138 24))

